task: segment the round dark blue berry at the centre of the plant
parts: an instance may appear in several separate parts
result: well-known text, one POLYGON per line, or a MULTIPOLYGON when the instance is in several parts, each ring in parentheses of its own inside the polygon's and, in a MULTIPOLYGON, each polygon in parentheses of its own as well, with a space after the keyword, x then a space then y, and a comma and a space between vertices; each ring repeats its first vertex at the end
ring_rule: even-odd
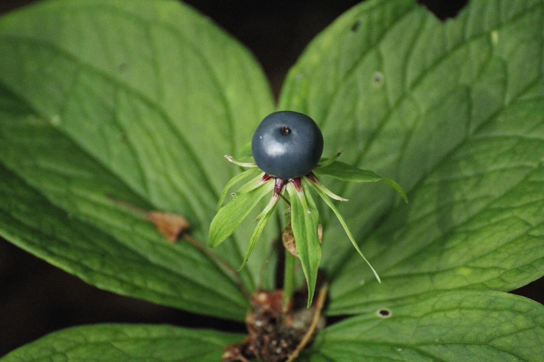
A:
POLYGON ((316 122, 302 113, 274 112, 258 125, 251 151, 265 173, 293 179, 316 167, 323 153, 323 135, 316 122))

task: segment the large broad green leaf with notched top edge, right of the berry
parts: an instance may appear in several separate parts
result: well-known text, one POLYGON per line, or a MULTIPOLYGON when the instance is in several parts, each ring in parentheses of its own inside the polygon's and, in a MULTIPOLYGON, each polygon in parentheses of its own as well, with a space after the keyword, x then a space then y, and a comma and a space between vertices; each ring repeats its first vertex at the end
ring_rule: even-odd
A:
POLYGON ((410 199, 380 183, 330 185, 383 283, 334 242, 344 231, 321 204, 327 313, 544 274, 543 27, 541 0, 472 0, 446 22, 415 1, 370 0, 308 46, 280 108, 316 120, 324 154, 344 150, 410 199))

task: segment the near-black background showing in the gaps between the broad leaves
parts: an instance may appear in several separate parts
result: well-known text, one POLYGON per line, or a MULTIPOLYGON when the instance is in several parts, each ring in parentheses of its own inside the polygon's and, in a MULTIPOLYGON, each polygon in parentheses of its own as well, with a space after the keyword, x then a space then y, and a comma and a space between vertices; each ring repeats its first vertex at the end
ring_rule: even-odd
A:
MULTIPOLYGON (((32 0, 0 0, 0 14, 32 0)), ((189 0, 255 54, 274 94, 307 43, 357 0, 189 0)), ((466 0, 426 0, 440 18, 466 0)), ((544 302, 544 278, 514 291, 544 302)), ((100 322, 170 323, 243 332, 240 323, 99 290, 0 239, 0 356, 60 328, 100 322)))

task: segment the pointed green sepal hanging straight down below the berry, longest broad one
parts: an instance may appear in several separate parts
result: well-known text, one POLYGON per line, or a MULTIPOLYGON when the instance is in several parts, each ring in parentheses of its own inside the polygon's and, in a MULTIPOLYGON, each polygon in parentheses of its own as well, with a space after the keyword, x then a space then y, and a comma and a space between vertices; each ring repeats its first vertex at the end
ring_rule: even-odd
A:
POLYGON ((307 188, 296 190, 293 182, 287 183, 286 187, 291 202, 291 228, 295 237, 296 252, 299 254, 302 271, 308 284, 308 307, 310 307, 321 259, 321 245, 317 236, 319 213, 307 188))

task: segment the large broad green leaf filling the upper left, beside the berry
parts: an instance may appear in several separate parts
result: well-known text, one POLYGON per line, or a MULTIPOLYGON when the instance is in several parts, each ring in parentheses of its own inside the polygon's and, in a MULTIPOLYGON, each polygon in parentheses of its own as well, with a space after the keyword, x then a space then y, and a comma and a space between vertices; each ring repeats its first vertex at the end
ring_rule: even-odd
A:
MULTIPOLYGON (((218 303, 203 307, 192 287, 187 287, 191 293, 181 293, 187 280, 204 283, 208 272, 215 272, 194 274, 194 263, 187 260, 196 251, 187 243, 165 245, 147 221, 112 199, 182 215, 194 237, 205 242, 221 189, 239 172, 223 155, 237 156, 272 109, 266 80, 249 52, 180 2, 46 1, 4 15, 0 165, 9 170, 3 173, 5 182, 34 195, 17 199, 16 205, 34 214, 30 220, 11 214, 18 229, 2 223, 0 230, 11 242, 48 255, 51 263, 101 288, 241 319, 243 310, 223 313, 220 309, 231 307, 218 308, 218 303), (70 228, 62 243, 46 242, 55 237, 53 230, 36 242, 26 227, 45 223, 48 207, 56 210, 55 223, 77 220, 103 233, 107 245, 95 248, 70 228), (139 256, 138 266, 131 254, 123 257, 127 248, 139 256), (116 257, 106 261, 106 250, 116 257), (180 257, 183 253, 188 256, 180 257), (98 283, 86 263, 117 272, 98 283), (168 287, 148 282, 147 270, 155 265, 171 274, 168 287), (153 294, 168 288, 168 298, 153 294)), ((4 188, 4 193, 11 191, 4 188)), ((250 235, 241 228, 213 252, 238 266, 250 235)), ((266 230, 265 236, 271 238, 266 230)), ((264 254, 269 245, 256 248, 264 254)), ((240 272, 246 289, 261 287, 259 280, 268 283, 273 268, 259 278, 262 266, 262 260, 250 261, 240 272)), ((230 275, 215 277, 212 299, 234 283, 230 275)), ((233 299, 246 305, 239 293, 233 299)))

